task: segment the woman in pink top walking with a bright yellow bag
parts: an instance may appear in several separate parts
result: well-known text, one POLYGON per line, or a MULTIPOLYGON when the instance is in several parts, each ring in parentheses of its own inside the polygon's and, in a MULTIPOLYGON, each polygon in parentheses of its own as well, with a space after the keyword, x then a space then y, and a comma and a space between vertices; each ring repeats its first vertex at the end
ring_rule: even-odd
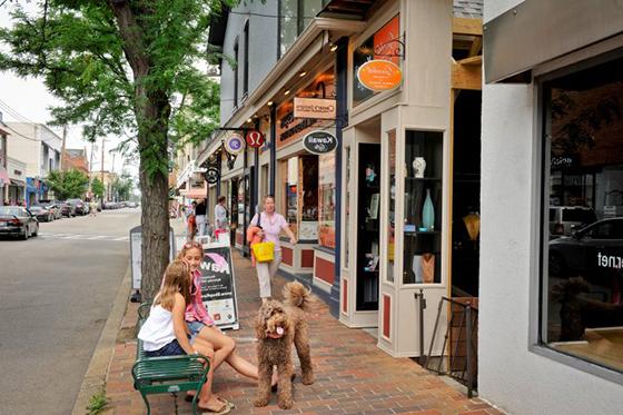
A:
POLYGON ((271 297, 273 278, 277 274, 279 264, 281 263, 281 245, 279 241, 279 234, 281 231, 285 231, 290 238, 290 244, 296 245, 296 236, 289 228, 286 218, 275 211, 275 197, 273 195, 267 195, 264 197, 264 211, 253 217, 249 229, 247 230, 247 240, 250 244, 257 241, 270 241, 275 244, 273 260, 260 263, 254 258, 259 283, 259 297, 263 304, 271 297))

